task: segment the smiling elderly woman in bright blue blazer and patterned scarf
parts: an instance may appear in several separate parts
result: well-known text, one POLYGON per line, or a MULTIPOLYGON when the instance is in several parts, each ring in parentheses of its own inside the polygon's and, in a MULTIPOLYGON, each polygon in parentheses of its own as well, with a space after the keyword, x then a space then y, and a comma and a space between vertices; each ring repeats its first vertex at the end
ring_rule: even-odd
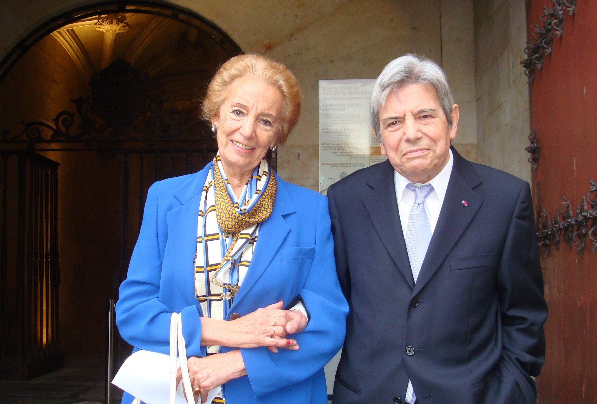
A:
MULTIPOLYGON (((281 180, 264 159, 300 116, 296 78, 265 57, 233 57, 203 112, 219 151, 196 174, 150 187, 119 331, 135 349, 168 353, 170 316, 181 313, 202 402, 221 386, 213 403, 327 403, 323 367, 348 312, 327 199, 281 180)), ((122 403, 132 400, 125 393, 122 403)))

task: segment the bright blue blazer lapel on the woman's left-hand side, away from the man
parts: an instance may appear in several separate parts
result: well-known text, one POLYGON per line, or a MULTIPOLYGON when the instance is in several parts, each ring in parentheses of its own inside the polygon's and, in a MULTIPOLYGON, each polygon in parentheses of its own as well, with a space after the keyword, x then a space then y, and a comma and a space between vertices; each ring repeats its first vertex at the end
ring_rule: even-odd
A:
POLYGON ((209 165, 174 191, 181 205, 167 214, 170 270, 184 300, 193 306, 197 304, 193 258, 197 249, 199 202, 208 172, 209 165))

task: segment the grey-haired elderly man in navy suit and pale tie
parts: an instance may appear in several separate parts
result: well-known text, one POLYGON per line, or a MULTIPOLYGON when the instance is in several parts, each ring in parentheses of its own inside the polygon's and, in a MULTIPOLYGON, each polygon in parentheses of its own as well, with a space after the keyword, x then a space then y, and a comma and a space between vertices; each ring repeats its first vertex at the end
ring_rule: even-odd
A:
POLYGON ((462 158, 433 61, 404 55, 371 92, 387 161, 328 189, 349 301, 335 404, 535 403, 547 306, 525 181, 462 158))

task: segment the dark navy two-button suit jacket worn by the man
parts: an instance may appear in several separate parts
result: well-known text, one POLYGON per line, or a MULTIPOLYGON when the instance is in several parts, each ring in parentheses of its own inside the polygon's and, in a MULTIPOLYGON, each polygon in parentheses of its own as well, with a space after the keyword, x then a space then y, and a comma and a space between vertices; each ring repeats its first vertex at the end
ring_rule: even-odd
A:
POLYGON ((409 379, 420 404, 536 402, 547 306, 530 187, 452 150, 417 283, 390 162, 328 189, 350 307, 336 404, 404 402, 409 379))

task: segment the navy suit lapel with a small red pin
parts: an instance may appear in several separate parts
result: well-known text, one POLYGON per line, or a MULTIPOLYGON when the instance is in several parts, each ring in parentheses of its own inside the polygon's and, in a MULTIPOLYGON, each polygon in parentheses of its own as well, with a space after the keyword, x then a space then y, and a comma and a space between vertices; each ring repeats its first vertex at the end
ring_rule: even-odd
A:
POLYGON ((433 231, 427 254, 421 266, 421 272, 413 290, 413 296, 425 286, 438 270, 483 203, 481 196, 473 190, 481 183, 481 178, 476 174, 475 168, 470 162, 458 155, 454 148, 452 148, 452 152, 454 166, 450 175, 450 182, 439 213, 438 223, 433 231), (463 201, 467 202, 466 206, 464 206, 463 201))

